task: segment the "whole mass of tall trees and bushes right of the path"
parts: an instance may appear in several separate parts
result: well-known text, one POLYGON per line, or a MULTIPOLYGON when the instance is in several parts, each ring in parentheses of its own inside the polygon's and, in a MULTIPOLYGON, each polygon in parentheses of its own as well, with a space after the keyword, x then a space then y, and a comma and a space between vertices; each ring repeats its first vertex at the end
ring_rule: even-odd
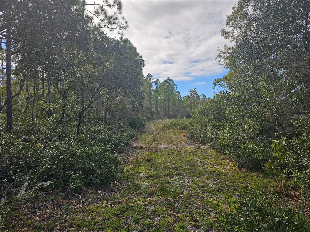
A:
POLYGON ((194 112, 188 138, 310 193, 310 2, 239 1, 219 50, 224 88, 194 112))

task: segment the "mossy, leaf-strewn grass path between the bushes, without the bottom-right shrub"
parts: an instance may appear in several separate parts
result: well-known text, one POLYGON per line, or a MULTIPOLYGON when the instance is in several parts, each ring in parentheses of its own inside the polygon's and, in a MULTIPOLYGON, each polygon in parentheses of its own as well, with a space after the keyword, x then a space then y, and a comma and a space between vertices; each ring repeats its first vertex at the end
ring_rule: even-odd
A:
MULTIPOLYGON (((148 123, 123 156, 124 173, 109 188, 81 195, 43 192, 10 213, 11 231, 219 231, 227 191, 281 190, 277 179, 240 170, 208 146, 188 144, 186 131, 148 123), (179 190, 176 199, 162 191, 179 190)), ((292 196, 292 198, 296 196, 292 196)))

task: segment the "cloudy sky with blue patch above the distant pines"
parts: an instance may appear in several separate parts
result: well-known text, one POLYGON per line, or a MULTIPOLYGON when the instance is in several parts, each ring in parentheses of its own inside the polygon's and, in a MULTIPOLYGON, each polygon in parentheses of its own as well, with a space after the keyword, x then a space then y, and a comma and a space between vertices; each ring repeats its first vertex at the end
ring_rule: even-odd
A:
MULTIPOLYGON (((102 2, 102 1, 98 1, 102 2)), ((129 22, 124 37, 130 39, 145 59, 144 75, 161 81, 172 78, 181 95, 197 88, 212 97, 215 78, 228 70, 215 59, 225 41, 225 27, 234 1, 122 1, 129 22)), ((109 36, 119 35, 107 31, 109 36)))

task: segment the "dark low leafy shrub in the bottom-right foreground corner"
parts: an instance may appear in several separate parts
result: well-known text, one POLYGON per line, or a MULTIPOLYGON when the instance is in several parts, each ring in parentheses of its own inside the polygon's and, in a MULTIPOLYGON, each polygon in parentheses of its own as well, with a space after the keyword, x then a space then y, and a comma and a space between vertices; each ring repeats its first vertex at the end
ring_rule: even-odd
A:
POLYGON ((298 213, 285 199, 247 186, 236 204, 228 197, 225 232, 308 231, 309 218, 298 213))

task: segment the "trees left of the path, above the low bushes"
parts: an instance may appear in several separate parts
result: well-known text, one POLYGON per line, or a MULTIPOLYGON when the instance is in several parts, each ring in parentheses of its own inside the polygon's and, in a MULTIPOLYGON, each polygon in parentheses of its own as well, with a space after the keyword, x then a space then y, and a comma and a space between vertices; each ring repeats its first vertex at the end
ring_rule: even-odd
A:
POLYGON ((126 29, 122 3, 95 5, 91 13, 85 1, 2 2, 6 131, 18 121, 48 117, 55 132, 71 117, 79 133, 94 117, 106 123, 119 117, 119 108, 137 111, 144 60, 131 41, 100 30, 126 29))

